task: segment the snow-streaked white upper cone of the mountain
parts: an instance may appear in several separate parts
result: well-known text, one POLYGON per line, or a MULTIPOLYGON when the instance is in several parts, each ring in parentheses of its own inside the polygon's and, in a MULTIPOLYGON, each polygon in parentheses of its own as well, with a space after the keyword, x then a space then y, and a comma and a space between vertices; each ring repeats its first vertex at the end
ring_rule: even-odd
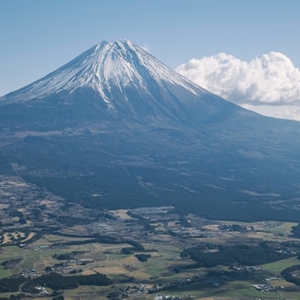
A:
POLYGON ((150 94, 153 82, 166 88, 179 85, 194 95, 206 93, 177 72, 168 68, 146 50, 129 40, 101 42, 47 76, 2 97, 4 102, 24 102, 60 92, 73 93, 91 88, 113 108, 110 92, 118 89, 126 96, 126 88, 150 94))

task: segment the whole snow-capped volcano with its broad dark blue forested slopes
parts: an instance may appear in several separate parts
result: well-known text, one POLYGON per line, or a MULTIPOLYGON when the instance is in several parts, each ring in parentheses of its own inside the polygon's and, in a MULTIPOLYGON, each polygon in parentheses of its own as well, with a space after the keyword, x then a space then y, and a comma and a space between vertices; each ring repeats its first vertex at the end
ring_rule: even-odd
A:
POLYGON ((0 98, 0 172, 86 206, 299 221, 299 133, 102 42, 0 98))

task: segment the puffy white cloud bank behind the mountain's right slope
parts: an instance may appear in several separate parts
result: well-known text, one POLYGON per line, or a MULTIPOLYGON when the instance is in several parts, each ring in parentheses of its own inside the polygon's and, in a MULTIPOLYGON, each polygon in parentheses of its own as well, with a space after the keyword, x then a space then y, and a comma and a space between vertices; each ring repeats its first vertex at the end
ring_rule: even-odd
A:
POLYGON ((258 113, 300 120, 300 70, 282 53, 245 62, 219 53, 176 71, 209 91, 258 113))

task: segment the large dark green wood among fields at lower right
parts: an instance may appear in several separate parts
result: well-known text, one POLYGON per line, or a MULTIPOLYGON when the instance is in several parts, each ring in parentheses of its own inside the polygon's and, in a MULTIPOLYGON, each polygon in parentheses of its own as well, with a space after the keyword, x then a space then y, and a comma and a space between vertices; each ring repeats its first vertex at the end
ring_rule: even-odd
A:
MULTIPOLYGON (((180 268, 230 266, 233 264, 261 265, 293 256, 291 253, 279 252, 268 243, 259 245, 216 246, 215 251, 204 249, 203 245, 182 251, 182 257, 190 257, 196 263, 180 268)), ((177 266, 178 267, 178 266, 177 266)))

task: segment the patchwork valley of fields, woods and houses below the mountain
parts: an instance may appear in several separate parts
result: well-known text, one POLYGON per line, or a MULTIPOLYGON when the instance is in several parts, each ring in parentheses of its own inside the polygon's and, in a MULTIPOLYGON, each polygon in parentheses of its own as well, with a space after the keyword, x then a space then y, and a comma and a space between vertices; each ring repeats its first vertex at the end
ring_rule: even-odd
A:
POLYGON ((89 209, 17 176, 0 191, 1 299, 298 299, 295 222, 89 209))

